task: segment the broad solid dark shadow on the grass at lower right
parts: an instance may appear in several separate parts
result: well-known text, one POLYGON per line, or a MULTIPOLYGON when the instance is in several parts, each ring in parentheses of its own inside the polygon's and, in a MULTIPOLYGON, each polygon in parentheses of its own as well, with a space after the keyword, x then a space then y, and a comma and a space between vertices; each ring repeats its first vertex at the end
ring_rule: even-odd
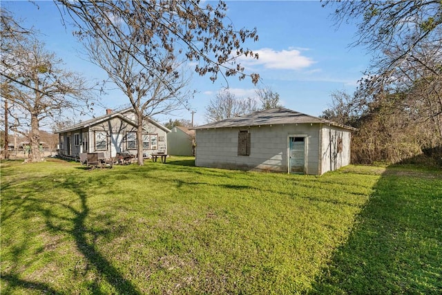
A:
POLYGON ((309 294, 442 294, 442 175, 387 168, 309 294))

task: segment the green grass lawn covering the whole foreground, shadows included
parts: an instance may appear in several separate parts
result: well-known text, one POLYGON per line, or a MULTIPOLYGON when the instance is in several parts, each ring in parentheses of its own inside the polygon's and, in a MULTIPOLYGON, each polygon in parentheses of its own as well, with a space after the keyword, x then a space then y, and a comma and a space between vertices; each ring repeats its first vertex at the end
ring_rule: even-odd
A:
POLYGON ((1 294, 438 294, 442 175, 1 163, 1 294))

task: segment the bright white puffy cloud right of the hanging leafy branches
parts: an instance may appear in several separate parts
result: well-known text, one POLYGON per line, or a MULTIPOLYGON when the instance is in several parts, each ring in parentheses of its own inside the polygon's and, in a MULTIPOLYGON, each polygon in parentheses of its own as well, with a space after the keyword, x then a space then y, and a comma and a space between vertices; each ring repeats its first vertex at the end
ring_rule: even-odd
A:
POLYGON ((244 62, 253 65, 262 65, 265 68, 280 70, 300 70, 308 68, 315 63, 310 57, 303 56, 301 50, 289 48, 288 50, 273 50, 271 48, 262 48, 253 50, 258 53, 258 59, 244 58, 244 62))

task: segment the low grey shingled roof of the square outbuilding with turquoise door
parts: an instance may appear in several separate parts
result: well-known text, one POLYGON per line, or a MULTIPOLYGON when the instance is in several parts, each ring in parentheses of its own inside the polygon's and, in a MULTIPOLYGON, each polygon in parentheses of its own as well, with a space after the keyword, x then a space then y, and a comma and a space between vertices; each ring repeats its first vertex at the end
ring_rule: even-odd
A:
POLYGON ((277 125, 277 124, 309 124, 309 123, 322 123, 332 126, 338 126, 343 129, 356 131, 351 126, 338 124, 329 120, 325 120, 320 117, 314 117, 299 113, 297 111, 289 110, 288 108, 271 108, 264 111, 256 111, 250 115, 244 115, 240 117, 233 117, 230 119, 205 124, 202 126, 194 127, 193 129, 215 129, 215 128, 227 128, 227 127, 248 127, 248 126, 261 126, 261 125, 277 125))

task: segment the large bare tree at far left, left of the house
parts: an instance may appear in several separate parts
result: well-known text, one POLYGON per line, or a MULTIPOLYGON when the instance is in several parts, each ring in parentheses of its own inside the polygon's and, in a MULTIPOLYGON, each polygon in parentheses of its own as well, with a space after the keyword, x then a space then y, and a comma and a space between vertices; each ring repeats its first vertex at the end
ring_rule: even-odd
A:
POLYGON ((57 119, 63 111, 84 109, 90 86, 77 73, 64 70, 61 59, 32 37, 2 55, 2 70, 2 84, 10 86, 2 93, 11 103, 8 113, 14 122, 10 129, 28 138, 30 161, 40 162, 41 125, 57 119))

